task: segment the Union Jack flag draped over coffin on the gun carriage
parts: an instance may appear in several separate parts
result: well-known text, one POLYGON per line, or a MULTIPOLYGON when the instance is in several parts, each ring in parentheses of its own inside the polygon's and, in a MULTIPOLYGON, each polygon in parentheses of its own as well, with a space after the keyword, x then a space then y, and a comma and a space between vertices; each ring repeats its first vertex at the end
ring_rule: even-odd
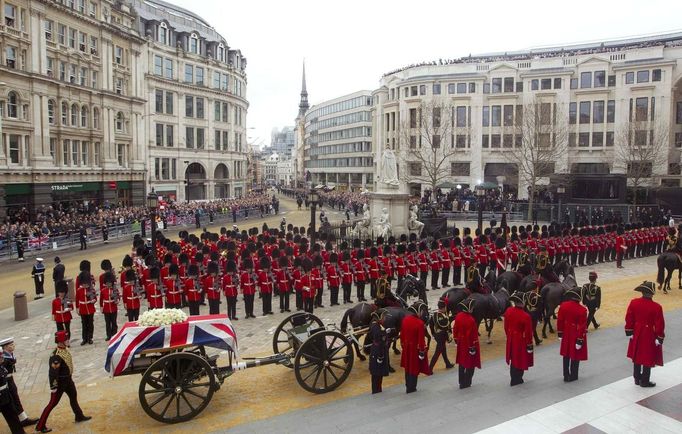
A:
POLYGON ((186 345, 231 350, 235 355, 238 352, 237 333, 226 315, 190 316, 185 322, 158 327, 128 322, 109 342, 104 369, 115 377, 121 375, 142 351, 186 345))

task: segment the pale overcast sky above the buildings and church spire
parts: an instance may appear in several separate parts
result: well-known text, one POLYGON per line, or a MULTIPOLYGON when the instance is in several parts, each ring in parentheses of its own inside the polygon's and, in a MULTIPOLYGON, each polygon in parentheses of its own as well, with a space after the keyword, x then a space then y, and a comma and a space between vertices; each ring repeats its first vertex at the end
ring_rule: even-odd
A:
POLYGON ((312 105, 376 89, 413 63, 682 29, 682 2, 168 0, 247 57, 248 141, 293 125, 305 59, 312 105))

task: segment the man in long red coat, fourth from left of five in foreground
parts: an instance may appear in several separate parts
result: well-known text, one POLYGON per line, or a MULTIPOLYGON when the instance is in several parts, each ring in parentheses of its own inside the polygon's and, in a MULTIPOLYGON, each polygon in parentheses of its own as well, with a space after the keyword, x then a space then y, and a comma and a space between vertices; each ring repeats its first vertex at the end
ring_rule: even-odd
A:
POLYGON ((564 362, 564 381, 578 379, 580 362, 587 360, 587 308, 580 304, 580 291, 570 289, 566 301, 559 305, 557 333, 561 340, 560 354, 564 362))

